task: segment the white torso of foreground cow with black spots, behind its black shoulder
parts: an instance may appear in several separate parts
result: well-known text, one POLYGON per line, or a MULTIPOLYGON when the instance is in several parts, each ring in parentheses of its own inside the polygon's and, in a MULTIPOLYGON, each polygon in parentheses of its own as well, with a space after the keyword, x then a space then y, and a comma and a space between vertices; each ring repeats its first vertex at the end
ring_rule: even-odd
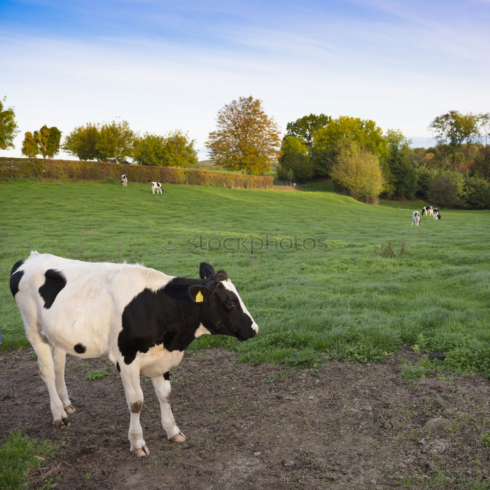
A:
POLYGON ((117 349, 124 307, 144 289, 156 291, 172 279, 140 265, 83 262, 37 252, 31 252, 14 274, 18 291, 12 293, 27 338, 30 328, 40 328, 49 343, 80 357, 107 356, 117 349))

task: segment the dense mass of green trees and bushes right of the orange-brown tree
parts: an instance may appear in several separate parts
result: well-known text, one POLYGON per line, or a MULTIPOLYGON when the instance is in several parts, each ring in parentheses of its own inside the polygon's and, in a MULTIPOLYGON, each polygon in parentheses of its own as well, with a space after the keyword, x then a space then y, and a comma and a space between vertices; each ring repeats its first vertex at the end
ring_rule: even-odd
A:
POLYGON ((412 148, 399 130, 372 120, 310 114, 286 126, 281 179, 330 176, 338 192, 364 202, 428 199, 441 207, 490 207, 490 113, 449 111, 430 124, 437 142, 412 148))

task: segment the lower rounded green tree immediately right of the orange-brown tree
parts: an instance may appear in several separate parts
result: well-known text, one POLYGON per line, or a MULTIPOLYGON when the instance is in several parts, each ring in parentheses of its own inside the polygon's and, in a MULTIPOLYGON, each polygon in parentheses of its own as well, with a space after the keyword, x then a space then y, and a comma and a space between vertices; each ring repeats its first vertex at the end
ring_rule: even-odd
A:
POLYGON ((282 155, 277 165, 280 179, 307 179, 313 175, 313 166, 308 147, 296 136, 286 135, 282 139, 282 155))

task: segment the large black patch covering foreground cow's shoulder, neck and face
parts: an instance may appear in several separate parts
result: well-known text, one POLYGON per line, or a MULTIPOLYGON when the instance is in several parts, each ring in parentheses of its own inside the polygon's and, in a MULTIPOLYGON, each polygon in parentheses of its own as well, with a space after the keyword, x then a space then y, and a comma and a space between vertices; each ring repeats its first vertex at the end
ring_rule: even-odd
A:
POLYGON ((184 351, 195 339, 201 323, 212 334, 233 335, 239 340, 255 335, 250 328, 252 319, 244 315, 239 298, 222 284, 228 277, 226 272, 215 272, 203 263, 200 275, 205 278, 175 277, 157 291, 144 289, 126 305, 118 337, 126 365, 135 360, 138 352, 146 353, 156 345, 163 345, 170 352, 184 351), (204 301, 196 301, 198 292, 204 301))

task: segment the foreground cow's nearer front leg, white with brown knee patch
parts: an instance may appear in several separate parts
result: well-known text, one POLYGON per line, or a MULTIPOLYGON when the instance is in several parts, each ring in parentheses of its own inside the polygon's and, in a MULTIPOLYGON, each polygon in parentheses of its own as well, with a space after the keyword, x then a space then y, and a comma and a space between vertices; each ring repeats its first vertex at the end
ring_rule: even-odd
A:
POLYGON ((130 421, 128 439, 131 444, 129 450, 139 458, 147 456, 149 449, 143 439, 143 429, 140 424, 140 412, 143 408, 143 390, 140 386, 139 367, 126 366, 120 363, 121 379, 123 380, 124 392, 126 394, 127 406, 129 408, 130 421))

